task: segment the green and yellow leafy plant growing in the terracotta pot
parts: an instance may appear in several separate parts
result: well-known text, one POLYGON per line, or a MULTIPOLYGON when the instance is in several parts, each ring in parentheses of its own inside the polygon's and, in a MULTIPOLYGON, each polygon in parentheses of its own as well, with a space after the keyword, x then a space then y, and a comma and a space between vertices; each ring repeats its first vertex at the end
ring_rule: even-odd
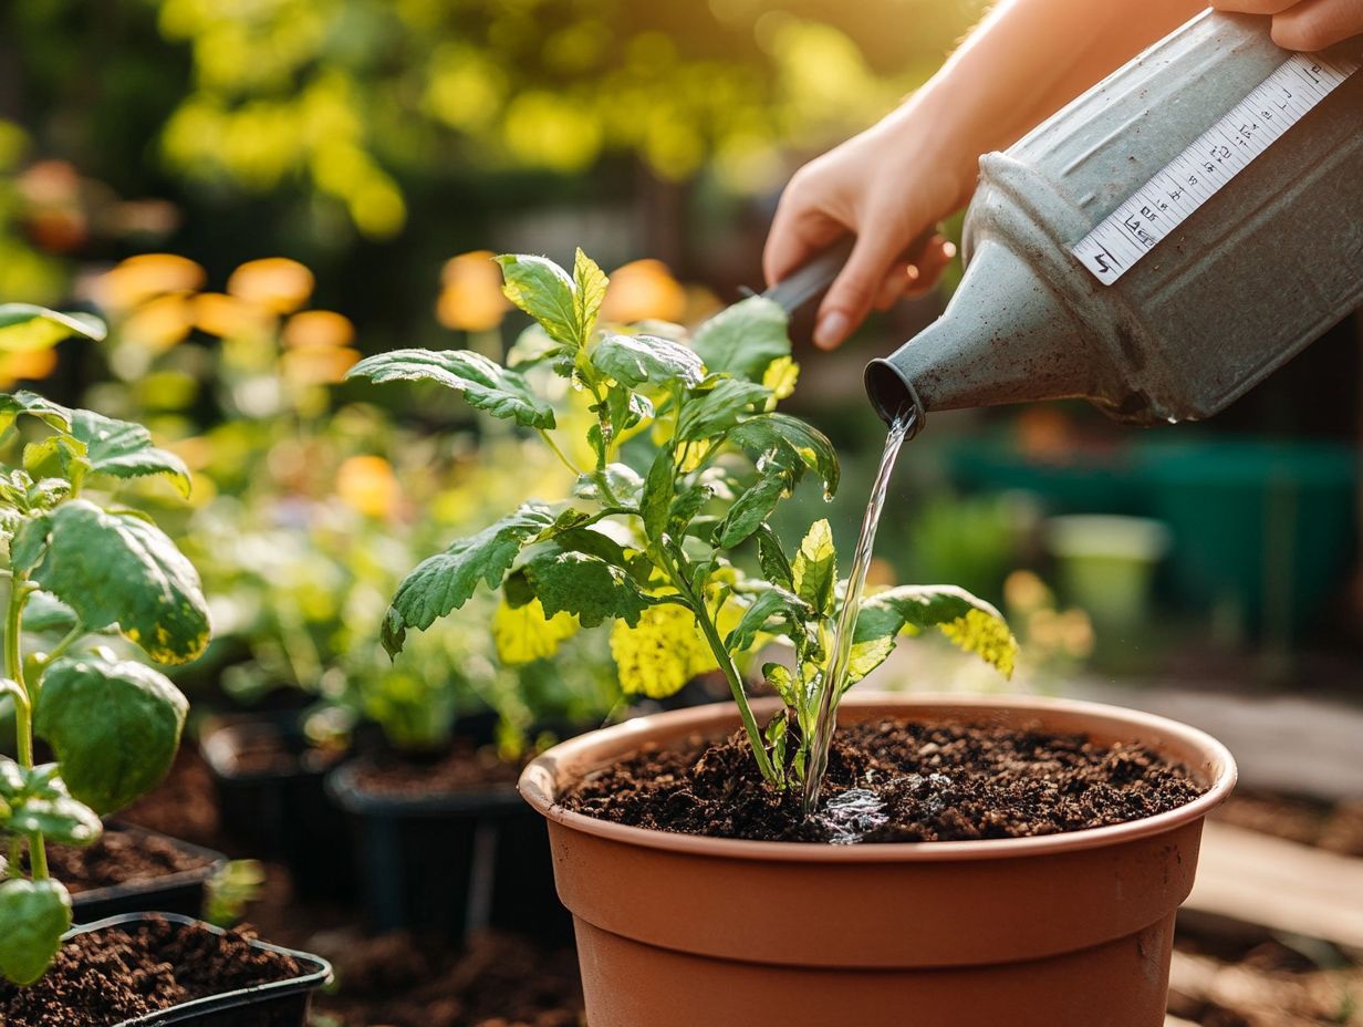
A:
MULTIPOLYGON (((497 259, 507 297, 540 329, 507 367, 468 351, 401 349, 350 374, 453 389, 538 432, 577 486, 568 502, 525 503, 417 566, 388 608, 386 648, 397 655, 409 630, 462 607, 478 582, 502 589, 493 631, 504 659, 545 656, 609 621, 627 693, 668 696, 718 668, 766 782, 803 782, 842 585, 827 521, 791 558, 769 518, 808 476, 831 496, 838 461, 819 431, 776 411, 799 371, 784 311, 752 297, 691 337, 672 325, 615 329, 597 323, 607 277, 582 251, 571 274, 540 256, 497 259), (585 397, 585 446, 556 438, 553 376, 585 397), (578 466, 575 449, 590 461, 578 466), (793 648, 793 668, 767 664, 763 675, 788 716, 763 727, 740 663, 777 637, 793 648)), ((991 606, 951 586, 905 586, 866 600, 848 685, 879 666, 901 631, 925 627, 1011 671, 1015 642, 991 606)))

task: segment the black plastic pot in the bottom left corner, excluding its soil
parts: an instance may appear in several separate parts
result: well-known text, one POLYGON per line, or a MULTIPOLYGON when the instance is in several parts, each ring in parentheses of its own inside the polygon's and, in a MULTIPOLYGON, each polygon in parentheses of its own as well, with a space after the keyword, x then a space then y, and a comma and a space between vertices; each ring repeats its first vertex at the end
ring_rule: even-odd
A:
MULTIPOLYGON (((155 917, 157 919, 185 926, 195 922, 191 917, 180 917, 170 912, 158 912, 155 917)), ((139 914, 109 917, 97 923, 76 927, 67 937, 71 938, 76 934, 87 934, 109 927, 134 926, 142 919, 144 917, 139 914)), ((218 934, 222 933, 218 927, 209 923, 200 923, 199 926, 218 934)), ((233 992, 196 998, 192 1002, 181 1002, 170 1009, 123 1020, 114 1027, 169 1027, 170 1024, 176 1024, 176 1027, 305 1027, 312 993, 331 983, 331 964, 320 956, 313 956, 308 952, 294 952, 293 949, 270 945, 264 941, 252 941, 251 947, 292 956, 303 967, 303 975, 289 981, 255 985, 254 987, 239 987, 233 992)))

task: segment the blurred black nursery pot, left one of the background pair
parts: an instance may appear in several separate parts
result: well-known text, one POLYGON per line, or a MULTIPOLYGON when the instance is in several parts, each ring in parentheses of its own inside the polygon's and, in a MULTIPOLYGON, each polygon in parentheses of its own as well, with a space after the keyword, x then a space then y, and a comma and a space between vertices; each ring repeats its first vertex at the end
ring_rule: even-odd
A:
POLYGON ((354 865, 342 813, 326 792, 334 765, 308 745, 297 715, 266 715, 204 732, 199 750, 218 794, 222 828, 252 855, 284 863, 303 900, 349 899, 354 865), (243 753, 260 745, 286 760, 241 769, 243 753))

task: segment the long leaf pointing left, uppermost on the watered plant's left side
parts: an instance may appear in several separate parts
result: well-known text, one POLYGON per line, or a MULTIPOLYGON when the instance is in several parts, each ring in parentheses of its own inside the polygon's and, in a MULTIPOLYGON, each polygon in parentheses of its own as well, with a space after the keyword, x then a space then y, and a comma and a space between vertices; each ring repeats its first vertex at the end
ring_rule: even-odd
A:
POLYGON ((553 408, 530 391, 525 375, 470 349, 394 349, 365 357, 350 368, 346 378, 438 382, 493 417, 510 419, 526 428, 553 427, 553 408))

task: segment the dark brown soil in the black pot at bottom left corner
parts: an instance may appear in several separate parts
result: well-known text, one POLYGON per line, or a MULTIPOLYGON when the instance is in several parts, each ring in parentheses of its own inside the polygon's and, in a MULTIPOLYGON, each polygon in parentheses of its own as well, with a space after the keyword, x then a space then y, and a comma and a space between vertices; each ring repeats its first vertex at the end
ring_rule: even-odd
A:
POLYGON ((251 948, 251 937, 241 930, 218 936, 165 921, 79 934, 57 953, 38 983, 0 983, 0 1023, 110 1027, 180 1002, 303 972, 288 956, 251 948))

